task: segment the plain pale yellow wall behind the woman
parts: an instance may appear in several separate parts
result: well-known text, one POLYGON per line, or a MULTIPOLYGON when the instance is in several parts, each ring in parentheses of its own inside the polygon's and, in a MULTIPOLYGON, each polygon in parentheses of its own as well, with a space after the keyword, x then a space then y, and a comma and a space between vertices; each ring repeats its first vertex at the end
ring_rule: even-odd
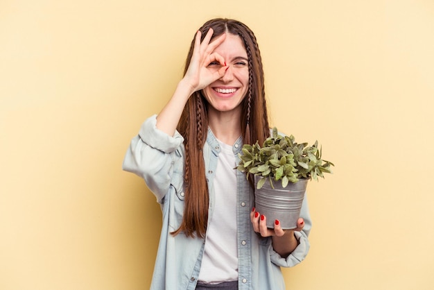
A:
POLYGON ((288 289, 434 287, 434 2, 0 2, 0 289, 148 289, 161 214, 121 171, 196 29, 257 34, 272 123, 318 139, 288 289))

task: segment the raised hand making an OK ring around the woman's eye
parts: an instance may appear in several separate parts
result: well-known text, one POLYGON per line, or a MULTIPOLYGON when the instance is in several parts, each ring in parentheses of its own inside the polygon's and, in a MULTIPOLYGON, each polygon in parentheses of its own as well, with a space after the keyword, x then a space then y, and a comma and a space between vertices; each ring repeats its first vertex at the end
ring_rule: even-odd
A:
POLYGON ((183 78, 183 81, 191 87, 192 93, 204 89, 225 75, 227 69, 225 60, 218 53, 214 53, 214 49, 225 40, 226 34, 223 33, 210 43, 213 33, 213 29, 209 28, 202 43, 200 42, 202 33, 200 31, 196 33, 193 55, 183 78), (220 66, 209 67, 211 62, 217 62, 220 66))

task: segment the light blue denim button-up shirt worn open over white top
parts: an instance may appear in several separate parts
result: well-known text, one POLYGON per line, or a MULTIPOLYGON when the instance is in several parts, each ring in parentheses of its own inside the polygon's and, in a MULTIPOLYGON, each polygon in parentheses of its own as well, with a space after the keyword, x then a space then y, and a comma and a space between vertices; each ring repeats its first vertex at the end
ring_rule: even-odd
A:
MULTIPOLYGON (((182 233, 175 237, 170 234, 180 227, 184 212, 184 139, 177 132, 173 137, 168 136, 157 130, 155 124, 156 115, 144 122, 123 160, 123 169, 144 178, 162 207, 162 232, 150 289, 193 290, 198 281, 205 239, 189 238, 182 233)), ((233 146, 237 161, 242 145, 240 138, 233 146)), ((215 201, 213 180, 220 145, 210 130, 203 153, 211 218, 215 201)), ((263 238, 254 232, 250 222, 250 211, 254 206, 253 190, 243 173, 237 171, 236 176, 238 289, 283 290, 285 284, 280 267, 295 266, 309 251, 311 219, 306 196, 300 214, 305 221, 304 230, 295 232, 299 245, 287 258, 282 258, 273 250, 270 237, 263 238)))

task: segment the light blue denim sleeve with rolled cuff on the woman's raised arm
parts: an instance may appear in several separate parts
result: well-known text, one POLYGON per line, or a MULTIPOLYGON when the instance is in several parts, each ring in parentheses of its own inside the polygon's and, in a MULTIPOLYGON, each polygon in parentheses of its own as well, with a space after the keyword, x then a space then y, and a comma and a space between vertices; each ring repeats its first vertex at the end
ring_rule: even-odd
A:
POLYGON ((157 115, 146 119, 139 134, 130 143, 123 159, 122 168, 144 178, 157 201, 168 191, 171 182, 173 163, 182 156, 176 153, 184 138, 177 131, 172 136, 158 130, 157 115))

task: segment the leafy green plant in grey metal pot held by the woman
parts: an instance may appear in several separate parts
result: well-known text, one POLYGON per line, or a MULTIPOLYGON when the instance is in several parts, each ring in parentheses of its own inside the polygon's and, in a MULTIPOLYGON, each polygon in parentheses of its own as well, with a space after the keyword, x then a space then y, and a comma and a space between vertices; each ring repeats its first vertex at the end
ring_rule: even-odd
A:
POLYGON ((297 144, 293 135, 279 135, 277 128, 262 146, 244 144, 239 157, 236 169, 248 179, 254 176, 255 207, 267 216, 268 228, 274 228, 275 219, 284 229, 296 228, 307 182, 324 178, 334 166, 322 160, 318 141, 297 144))

